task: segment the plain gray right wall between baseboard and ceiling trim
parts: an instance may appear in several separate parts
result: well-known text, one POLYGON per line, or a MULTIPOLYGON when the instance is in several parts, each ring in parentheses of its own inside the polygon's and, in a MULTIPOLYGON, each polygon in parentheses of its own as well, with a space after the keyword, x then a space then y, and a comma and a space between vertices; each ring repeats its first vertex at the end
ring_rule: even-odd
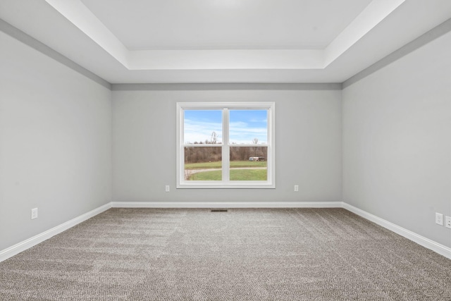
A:
POLYGON ((342 93, 343 201, 447 247, 450 53, 447 33, 342 93))

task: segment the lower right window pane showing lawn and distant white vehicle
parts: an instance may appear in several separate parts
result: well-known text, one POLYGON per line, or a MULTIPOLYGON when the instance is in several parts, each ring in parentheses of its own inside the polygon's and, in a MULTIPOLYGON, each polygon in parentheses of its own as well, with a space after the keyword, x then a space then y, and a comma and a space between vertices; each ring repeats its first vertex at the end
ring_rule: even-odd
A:
POLYGON ((230 180, 268 180, 268 147, 230 147, 230 180))

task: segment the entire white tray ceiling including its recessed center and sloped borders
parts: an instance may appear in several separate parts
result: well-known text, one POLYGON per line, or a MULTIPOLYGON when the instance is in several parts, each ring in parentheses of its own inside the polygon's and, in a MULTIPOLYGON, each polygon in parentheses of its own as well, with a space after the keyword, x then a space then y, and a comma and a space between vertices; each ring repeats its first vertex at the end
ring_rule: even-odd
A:
POLYGON ((451 18, 450 0, 0 0, 111 83, 343 82, 451 18))

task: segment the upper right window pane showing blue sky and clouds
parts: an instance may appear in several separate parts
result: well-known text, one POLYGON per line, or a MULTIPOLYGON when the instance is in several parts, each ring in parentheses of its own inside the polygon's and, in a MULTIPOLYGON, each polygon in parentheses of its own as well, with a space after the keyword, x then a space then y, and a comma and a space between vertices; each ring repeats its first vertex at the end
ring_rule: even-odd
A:
POLYGON ((229 142, 237 145, 268 143, 267 110, 230 110, 229 142))

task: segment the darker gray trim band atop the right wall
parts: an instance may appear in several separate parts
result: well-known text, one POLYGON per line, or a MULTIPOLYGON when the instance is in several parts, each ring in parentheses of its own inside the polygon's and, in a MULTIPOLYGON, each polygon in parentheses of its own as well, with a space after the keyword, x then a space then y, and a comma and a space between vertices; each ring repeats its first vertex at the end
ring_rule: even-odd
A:
POLYGON ((375 73, 376 71, 384 68, 385 66, 388 66, 390 63, 393 63, 394 61, 401 59, 403 56, 410 54, 412 51, 415 51, 416 49, 423 47, 424 45, 432 42, 434 39, 437 39, 438 37, 447 34, 448 32, 451 32, 451 18, 441 23, 440 25, 434 27, 433 29, 429 30, 428 32, 424 33, 424 35, 417 37, 412 42, 405 44, 400 49, 397 49, 393 51, 391 54, 388 54, 388 56, 385 56, 383 59, 377 61, 376 63, 373 63, 373 65, 353 75, 351 78, 348 78, 342 83, 343 89, 345 89, 346 87, 350 87, 350 85, 354 84, 355 82, 358 82, 363 78, 366 78, 367 76, 375 73))

